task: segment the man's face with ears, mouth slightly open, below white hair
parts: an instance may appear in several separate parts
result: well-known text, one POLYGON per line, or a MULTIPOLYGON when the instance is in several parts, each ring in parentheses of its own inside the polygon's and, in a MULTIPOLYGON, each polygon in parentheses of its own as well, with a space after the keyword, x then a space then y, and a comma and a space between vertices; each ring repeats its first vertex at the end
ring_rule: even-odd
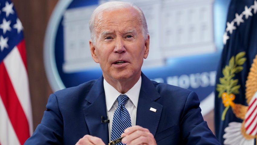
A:
POLYGON ((143 59, 149 52, 149 35, 145 40, 138 12, 129 8, 103 12, 95 20, 95 32, 96 44, 90 41, 90 50, 104 78, 139 78, 143 59))

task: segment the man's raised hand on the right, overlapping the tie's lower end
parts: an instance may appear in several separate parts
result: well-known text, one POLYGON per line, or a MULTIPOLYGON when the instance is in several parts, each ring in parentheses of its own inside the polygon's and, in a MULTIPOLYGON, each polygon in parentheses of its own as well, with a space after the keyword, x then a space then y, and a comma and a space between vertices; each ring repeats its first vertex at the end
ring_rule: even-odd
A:
POLYGON ((124 137, 122 143, 127 145, 156 145, 153 134, 141 126, 132 126, 125 129, 121 137, 124 137))

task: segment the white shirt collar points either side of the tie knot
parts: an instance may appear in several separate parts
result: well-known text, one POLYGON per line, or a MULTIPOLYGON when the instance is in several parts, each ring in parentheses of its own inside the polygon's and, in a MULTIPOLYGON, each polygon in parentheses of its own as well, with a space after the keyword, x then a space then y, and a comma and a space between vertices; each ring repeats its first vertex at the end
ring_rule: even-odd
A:
MULTIPOLYGON (((125 95, 129 97, 129 99, 132 101, 133 105, 136 108, 138 106, 138 97, 140 93, 141 82, 142 78, 140 76, 137 83, 131 89, 129 89, 127 93, 125 93, 125 95)), ((105 79, 103 79, 103 87, 106 98, 106 107, 107 111, 109 111, 121 93, 119 93, 113 86, 107 83, 105 79)))

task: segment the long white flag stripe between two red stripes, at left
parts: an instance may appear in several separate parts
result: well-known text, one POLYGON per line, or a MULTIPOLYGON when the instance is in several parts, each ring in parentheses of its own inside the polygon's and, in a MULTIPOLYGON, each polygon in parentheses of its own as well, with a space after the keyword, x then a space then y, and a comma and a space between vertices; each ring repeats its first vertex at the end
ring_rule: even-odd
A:
MULTIPOLYGON (((24 44, 24 43, 23 43, 24 44)), ((22 43, 18 44, 20 48, 14 47, 8 56, 4 59, 4 64, 8 75, 11 79, 11 83, 14 90, 18 96, 18 100, 21 103, 21 107, 27 117, 29 123, 29 133, 33 133, 33 123, 32 123, 32 112, 31 112, 31 102, 28 88, 28 73, 25 69, 25 65, 22 60, 18 49, 25 49, 22 43), (18 73, 17 73, 18 72, 18 73)))

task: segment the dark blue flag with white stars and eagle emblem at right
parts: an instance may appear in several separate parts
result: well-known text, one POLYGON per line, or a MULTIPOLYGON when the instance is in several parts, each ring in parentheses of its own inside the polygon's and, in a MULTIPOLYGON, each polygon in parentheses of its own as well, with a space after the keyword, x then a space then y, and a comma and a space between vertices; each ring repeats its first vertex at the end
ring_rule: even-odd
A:
POLYGON ((230 2, 215 92, 215 133, 225 145, 256 143, 256 12, 256 0, 230 2))

